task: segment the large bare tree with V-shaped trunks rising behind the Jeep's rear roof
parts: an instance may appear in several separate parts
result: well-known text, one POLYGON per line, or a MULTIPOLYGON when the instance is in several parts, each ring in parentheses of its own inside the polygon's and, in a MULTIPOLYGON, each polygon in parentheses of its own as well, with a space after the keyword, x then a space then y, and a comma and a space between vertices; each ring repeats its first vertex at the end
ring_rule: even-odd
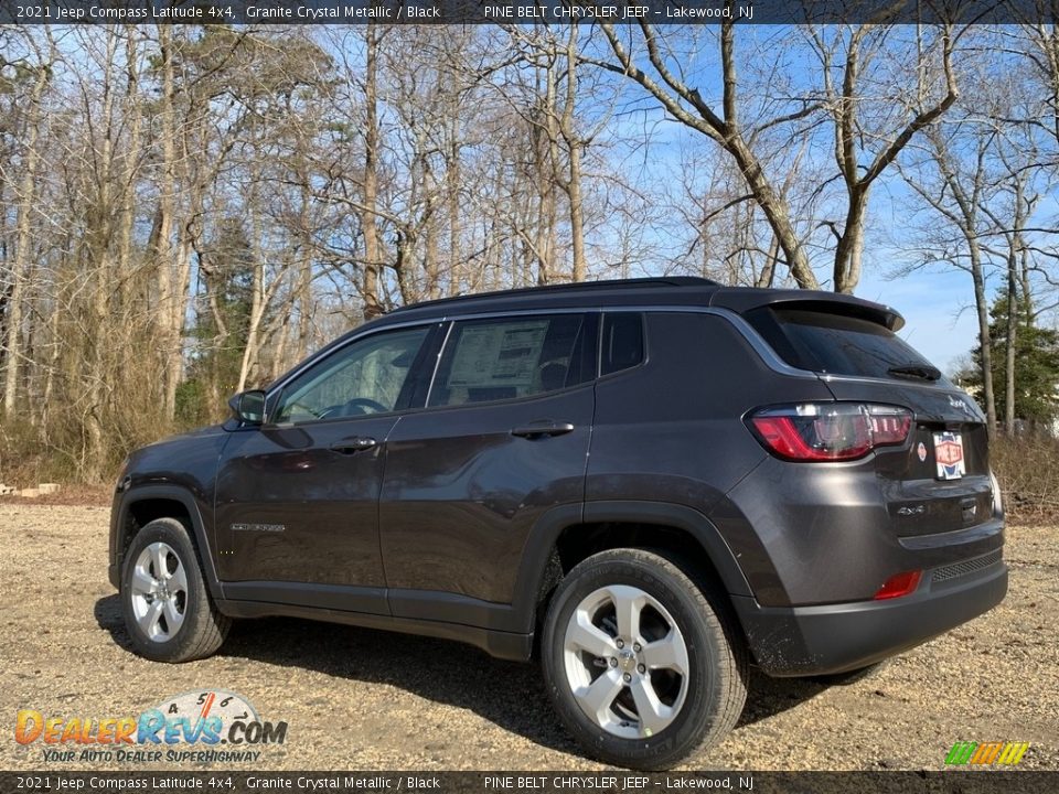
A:
MULTIPOLYGON (((900 82, 889 86, 886 96, 870 101, 869 124, 864 74, 870 62, 889 46, 892 25, 854 25, 830 37, 823 31, 811 31, 810 41, 821 64, 822 86, 820 89, 795 86, 793 95, 784 97, 767 82, 755 84, 744 79, 736 49, 739 28, 730 21, 721 22, 717 66, 723 86, 719 103, 707 99, 704 90, 692 82, 694 72, 685 68, 684 62, 693 60, 692 55, 681 52, 685 32, 662 33, 646 21, 621 29, 612 24, 601 28, 613 57, 595 57, 591 62, 639 84, 673 118, 703 133, 732 158, 746 182, 747 193, 769 223, 791 276, 800 287, 810 289, 817 289, 820 282, 809 257, 807 233, 799 233, 785 192, 778 186, 775 176, 770 175, 770 160, 778 149, 769 149, 768 143, 790 148, 792 141, 814 131, 822 118, 830 119, 835 162, 845 187, 842 219, 825 224, 835 237, 833 287, 841 292, 853 292, 860 279, 870 187, 901 149, 920 130, 940 119, 956 100, 959 92, 952 60, 960 32, 950 25, 940 25, 931 41, 920 42, 911 75, 916 88, 900 82), (644 58, 645 65, 641 65, 644 58), (941 76, 940 81, 933 79, 935 75, 941 76), (779 129, 789 133, 777 144, 773 133, 779 129)), ((684 49, 687 50, 687 45, 684 49)), ((892 61, 889 63, 892 66, 892 61)), ((895 71, 899 79, 907 78, 907 69, 895 71)), ((777 170, 772 165, 771 171, 777 170)), ((825 186, 826 182, 817 190, 825 186)))

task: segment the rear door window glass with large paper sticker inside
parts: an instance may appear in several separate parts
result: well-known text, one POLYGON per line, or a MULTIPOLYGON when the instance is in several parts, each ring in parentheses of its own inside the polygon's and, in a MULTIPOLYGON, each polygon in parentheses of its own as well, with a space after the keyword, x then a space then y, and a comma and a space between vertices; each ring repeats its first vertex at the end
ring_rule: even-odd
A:
POLYGON ((429 405, 531 397, 590 380, 586 362, 595 348, 592 328, 595 322, 581 314, 458 322, 429 405))

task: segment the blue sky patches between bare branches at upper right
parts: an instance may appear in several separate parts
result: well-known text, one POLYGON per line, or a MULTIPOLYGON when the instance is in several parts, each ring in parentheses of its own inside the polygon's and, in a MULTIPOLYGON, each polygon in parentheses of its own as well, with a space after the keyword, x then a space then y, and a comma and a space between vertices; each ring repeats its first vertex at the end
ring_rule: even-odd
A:
MULTIPOLYGON (((708 30, 697 32, 702 46, 687 49, 685 57, 680 58, 680 69, 688 84, 699 88, 704 98, 716 108, 719 106, 721 88, 716 63, 717 46, 708 30), (694 56, 686 57, 691 52, 695 53, 694 56)), ((737 52, 744 57, 750 55, 756 58, 759 66, 774 66, 777 72, 773 74, 781 81, 789 81, 793 86, 804 88, 815 82, 819 63, 810 57, 803 45, 795 44, 793 49, 788 49, 787 45, 802 39, 801 34, 801 31, 794 29, 751 25, 740 29, 737 52)), ((899 37, 910 35, 905 29, 896 31, 895 34, 899 37)), ((684 43, 683 40, 678 41, 684 43)), ((637 60, 643 65, 642 52, 639 55, 637 60)), ((671 66, 676 66, 676 63, 673 62, 671 66)), ((742 67, 745 66, 746 63, 742 64, 742 67)), ((902 65, 897 71, 907 68, 908 66, 902 65)), ((740 72, 740 76, 745 74, 740 72)), ((901 74, 900 78, 908 82, 913 74, 901 74)), ((871 83, 866 78, 865 85, 870 86, 871 83)), ((648 182, 660 176, 670 180, 678 178, 682 153, 698 152, 704 159, 729 157, 700 133, 687 130, 672 118, 665 118, 657 104, 646 98, 644 92, 628 84, 622 86, 620 92, 620 99, 616 103, 618 112, 616 118, 611 119, 611 125, 619 137, 622 133, 634 137, 638 131, 650 131, 646 150, 641 150, 641 155, 650 163, 646 169, 650 172, 646 175, 648 182)), ((755 88, 747 87, 744 96, 752 97, 755 88)), ((825 175, 833 174, 833 139, 827 127, 815 131, 811 140, 807 161, 819 163, 825 175)), ((913 139, 913 146, 914 143, 913 139)), ((870 154, 865 152, 865 160, 869 157, 870 154)), ((769 172, 770 168, 767 167, 766 170, 769 172)), ((773 181, 779 181, 782 172, 772 169, 770 176, 773 181)), ((822 210, 824 216, 841 219, 844 213, 841 191, 835 191, 830 206, 822 210)), ((921 255, 923 246, 929 246, 922 232, 941 224, 939 216, 924 210, 922 202, 903 183, 897 169, 887 169, 873 186, 869 198, 864 270, 856 294, 887 303, 899 311, 906 319, 900 335, 948 374, 955 368, 956 361, 966 356, 977 344, 977 320, 970 275, 953 266, 939 264, 932 269, 922 268, 908 276, 892 276, 900 266, 913 264, 914 258, 921 255)), ((798 211, 792 207, 792 212, 798 211)), ((1038 205, 1034 225, 1050 227, 1057 216, 1059 197, 1052 193, 1050 196, 1046 195, 1038 205)), ((798 219, 795 217, 795 223, 798 219)), ((959 236, 955 229, 952 232, 959 236)), ((827 240, 817 235, 816 243, 821 242, 827 240)), ((816 249, 812 257, 817 278, 822 280, 824 288, 831 286, 832 256, 833 248, 826 250, 825 246, 816 249)), ((991 301, 1001 277, 998 271, 993 270, 987 268, 986 272, 987 296, 991 301)))

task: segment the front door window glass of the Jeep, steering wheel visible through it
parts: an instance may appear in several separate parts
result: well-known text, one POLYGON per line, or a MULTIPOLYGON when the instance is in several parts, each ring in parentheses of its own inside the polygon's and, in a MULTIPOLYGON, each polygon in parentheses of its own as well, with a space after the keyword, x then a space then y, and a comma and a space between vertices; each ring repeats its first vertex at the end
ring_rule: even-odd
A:
POLYGON ((299 375, 280 395, 277 425, 397 410, 429 329, 383 332, 346 345, 299 375))

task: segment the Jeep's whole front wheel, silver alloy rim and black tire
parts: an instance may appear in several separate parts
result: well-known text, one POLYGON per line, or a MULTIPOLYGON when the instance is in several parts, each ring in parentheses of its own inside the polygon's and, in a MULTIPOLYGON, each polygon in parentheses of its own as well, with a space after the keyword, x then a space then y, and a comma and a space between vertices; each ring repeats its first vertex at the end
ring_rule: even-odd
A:
POLYGON ((121 608, 137 653, 157 662, 211 656, 231 625, 214 607, 191 536, 175 518, 152 521, 132 538, 121 608))

